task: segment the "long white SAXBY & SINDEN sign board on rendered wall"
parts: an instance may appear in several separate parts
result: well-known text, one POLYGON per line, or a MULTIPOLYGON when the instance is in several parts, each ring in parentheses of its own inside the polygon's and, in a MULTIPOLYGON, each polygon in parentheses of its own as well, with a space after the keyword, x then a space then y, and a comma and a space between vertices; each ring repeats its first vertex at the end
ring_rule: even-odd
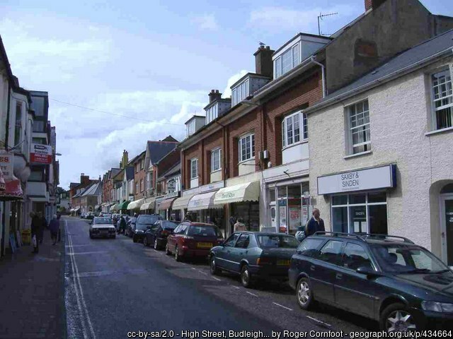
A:
POLYGON ((396 165, 318 177, 318 194, 388 189, 396 186, 396 165))

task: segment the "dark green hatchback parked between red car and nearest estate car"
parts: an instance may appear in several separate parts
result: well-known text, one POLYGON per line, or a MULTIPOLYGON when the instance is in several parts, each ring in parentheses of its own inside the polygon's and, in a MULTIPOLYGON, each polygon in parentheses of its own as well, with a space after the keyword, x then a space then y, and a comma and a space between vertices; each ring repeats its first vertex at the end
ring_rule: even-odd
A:
POLYGON ((281 233, 235 232, 210 252, 212 274, 228 270, 241 275, 244 287, 258 280, 285 281, 299 242, 281 233))

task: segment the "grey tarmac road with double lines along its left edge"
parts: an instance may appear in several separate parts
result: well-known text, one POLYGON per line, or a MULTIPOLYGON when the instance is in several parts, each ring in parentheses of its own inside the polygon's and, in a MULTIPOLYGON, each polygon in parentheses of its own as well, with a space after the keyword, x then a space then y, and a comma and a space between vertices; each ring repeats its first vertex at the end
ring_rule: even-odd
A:
POLYGON ((204 261, 178 263, 122 235, 89 239, 84 220, 65 218, 64 224, 69 338, 128 338, 139 331, 174 331, 174 338, 184 338, 181 331, 345 334, 377 327, 338 309, 302 311, 287 285, 246 289, 234 275, 210 275, 204 261))

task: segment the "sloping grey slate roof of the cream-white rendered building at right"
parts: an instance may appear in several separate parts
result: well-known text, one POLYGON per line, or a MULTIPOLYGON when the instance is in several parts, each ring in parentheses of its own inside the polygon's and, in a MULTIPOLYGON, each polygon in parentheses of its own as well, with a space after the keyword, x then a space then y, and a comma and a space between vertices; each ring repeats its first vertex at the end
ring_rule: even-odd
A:
POLYGON ((344 99, 347 96, 355 95, 360 90, 369 89, 369 85, 372 85, 373 83, 379 85, 391 78, 391 76, 396 75, 398 72, 415 69, 415 67, 419 66, 423 61, 430 61, 445 53, 451 54, 452 47, 453 30, 437 35, 437 37, 432 37, 430 40, 426 40, 415 47, 406 49, 406 51, 389 59, 385 64, 382 64, 377 67, 377 69, 362 76, 362 78, 359 78, 349 85, 324 97, 323 100, 316 105, 306 109, 306 112, 311 112, 321 106, 327 105, 327 102, 333 103, 337 99, 344 99))

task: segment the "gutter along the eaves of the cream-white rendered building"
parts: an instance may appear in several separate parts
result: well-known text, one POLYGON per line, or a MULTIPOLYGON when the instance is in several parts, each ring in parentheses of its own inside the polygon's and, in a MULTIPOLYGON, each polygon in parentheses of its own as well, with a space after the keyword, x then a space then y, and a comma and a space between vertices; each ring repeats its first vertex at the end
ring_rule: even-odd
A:
POLYGON ((357 95, 358 93, 361 93, 361 92, 364 92, 365 90, 374 88, 377 85, 387 83, 387 82, 393 80, 394 78, 397 78, 398 76, 406 75, 407 73, 410 73, 411 71, 415 71, 416 69, 423 67, 424 64, 428 63, 428 61, 431 61, 432 59, 436 59, 437 57, 442 57, 442 56, 444 56, 444 54, 445 54, 445 56, 447 56, 448 52, 450 52, 450 54, 453 54, 453 48, 448 47, 447 49, 444 49, 443 51, 438 52, 436 54, 433 54, 430 57, 427 57, 423 60, 416 61, 415 63, 404 67, 403 69, 398 69, 398 71, 394 71, 390 74, 387 74, 386 76, 383 76, 382 78, 377 78, 376 80, 374 80, 370 83, 365 83, 364 85, 361 85, 358 88, 348 90, 348 92, 340 94, 340 95, 338 95, 338 97, 332 97, 331 99, 328 99, 324 102, 320 102, 319 104, 316 104, 312 107, 307 108, 305 112, 306 113, 316 112, 319 109, 333 105, 336 102, 345 100, 346 98, 351 97, 352 95, 357 95))

